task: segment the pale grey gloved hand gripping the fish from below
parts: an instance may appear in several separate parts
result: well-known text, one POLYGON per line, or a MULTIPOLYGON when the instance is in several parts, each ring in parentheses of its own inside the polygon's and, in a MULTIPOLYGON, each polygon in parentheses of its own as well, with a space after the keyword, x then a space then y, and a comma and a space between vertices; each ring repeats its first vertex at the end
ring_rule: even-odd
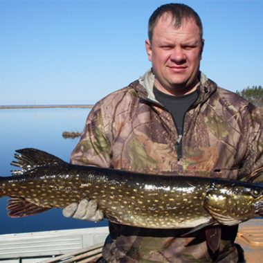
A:
POLYGON ((82 199, 80 203, 71 203, 69 206, 66 206, 62 213, 64 217, 98 222, 102 221, 104 215, 97 208, 98 202, 96 200, 88 201, 87 199, 82 199))

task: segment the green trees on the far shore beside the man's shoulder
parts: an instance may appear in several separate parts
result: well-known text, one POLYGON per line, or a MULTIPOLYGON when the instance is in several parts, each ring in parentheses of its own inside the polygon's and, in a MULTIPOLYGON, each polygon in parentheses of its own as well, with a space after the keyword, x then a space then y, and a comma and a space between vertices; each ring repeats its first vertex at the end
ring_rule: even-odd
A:
POLYGON ((263 107, 263 88, 261 86, 247 87, 237 94, 251 102, 256 107, 263 107))

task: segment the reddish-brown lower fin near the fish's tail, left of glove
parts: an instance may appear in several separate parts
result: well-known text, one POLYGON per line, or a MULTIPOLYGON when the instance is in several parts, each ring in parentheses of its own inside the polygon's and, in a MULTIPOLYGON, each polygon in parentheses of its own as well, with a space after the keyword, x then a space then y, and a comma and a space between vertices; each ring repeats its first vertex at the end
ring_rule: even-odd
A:
POLYGON ((48 207, 37 206, 35 203, 30 203, 24 198, 9 199, 7 210, 9 217, 27 217, 28 215, 37 215, 41 212, 46 212, 51 209, 48 207))

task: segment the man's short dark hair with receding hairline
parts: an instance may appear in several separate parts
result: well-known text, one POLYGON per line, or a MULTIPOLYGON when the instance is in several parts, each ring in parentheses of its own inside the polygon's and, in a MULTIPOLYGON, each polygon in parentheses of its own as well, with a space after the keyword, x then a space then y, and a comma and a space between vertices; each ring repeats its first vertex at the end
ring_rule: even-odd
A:
POLYGON ((172 21, 174 22, 175 28, 179 28, 185 19, 194 19, 200 30, 200 37, 201 39, 203 38, 203 26, 197 12, 190 8, 190 6, 186 6, 183 3, 167 3, 157 8, 149 18, 148 37, 150 42, 152 42, 154 27, 161 16, 165 13, 172 15, 172 21))

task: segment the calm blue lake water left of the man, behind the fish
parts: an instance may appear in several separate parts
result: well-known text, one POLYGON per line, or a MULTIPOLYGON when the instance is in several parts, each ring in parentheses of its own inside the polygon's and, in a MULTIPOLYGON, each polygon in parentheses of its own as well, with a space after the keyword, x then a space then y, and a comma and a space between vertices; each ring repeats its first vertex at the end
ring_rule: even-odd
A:
MULTIPOLYGON (((10 165, 16 149, 33 147, 42 149, 69 162, 71 152, 79 138, 63 138, 64 131, 79 131, 84 127, 90 109, 0 109, 0 176, 12 175, 10 165)), ((0 234, 26 233, 69 228, 108 226, 108 222, 93 223, 66 218, 62 209, 53 208, 39 215, 8 217, 8 197, 0 199, 0 234)))

